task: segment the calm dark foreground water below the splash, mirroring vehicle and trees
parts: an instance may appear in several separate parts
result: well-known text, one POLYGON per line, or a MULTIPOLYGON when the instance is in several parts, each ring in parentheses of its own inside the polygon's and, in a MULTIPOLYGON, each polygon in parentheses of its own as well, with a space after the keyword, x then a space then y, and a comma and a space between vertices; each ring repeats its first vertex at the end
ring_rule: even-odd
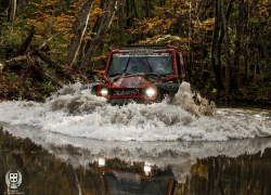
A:
POLYGON ((14 168, 24 194, 271 194, 270 138, 106 142, 29 126, 4 126, 0 138, 0 192, 14 168))

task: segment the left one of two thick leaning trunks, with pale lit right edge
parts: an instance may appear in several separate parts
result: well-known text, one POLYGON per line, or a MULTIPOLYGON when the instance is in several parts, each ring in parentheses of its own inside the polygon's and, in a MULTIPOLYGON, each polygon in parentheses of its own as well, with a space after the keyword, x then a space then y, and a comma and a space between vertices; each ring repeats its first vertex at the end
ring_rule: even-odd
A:
POLYGON ((89 14, 92 8, 93 0, 87 0, 85 1, 81 10, 79 11, 79 17, 78 17, 78 26, 75 31, 75 36, 73 38, 72 44, 68 49, 67 56, 66 56, 66 64, 68 66, 73 66, 74 62, 76 60, 76 56, 78 55, 82 37, 85 35, 85 31, 87 29, 88 21, 89 21, 89 14))

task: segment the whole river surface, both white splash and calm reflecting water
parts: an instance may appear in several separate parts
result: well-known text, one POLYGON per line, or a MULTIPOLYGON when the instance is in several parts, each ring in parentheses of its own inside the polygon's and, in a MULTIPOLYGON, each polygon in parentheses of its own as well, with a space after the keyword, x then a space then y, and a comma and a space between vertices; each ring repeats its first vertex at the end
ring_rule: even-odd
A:
POLYGON ((0 104, 1 194, 271 194, 270 110, 195 104, 189 83, 121 107, 80 88, 0 104))

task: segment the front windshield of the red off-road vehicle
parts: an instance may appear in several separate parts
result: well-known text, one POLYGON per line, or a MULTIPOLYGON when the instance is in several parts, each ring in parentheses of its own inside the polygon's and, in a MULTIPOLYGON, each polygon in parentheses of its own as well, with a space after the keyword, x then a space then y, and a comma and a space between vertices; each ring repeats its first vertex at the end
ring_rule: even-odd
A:
POLYGON ((173 75, 172 58, 168 53, 144 56, 114 54, 107 75, 113 76, 122 73, 173 75))

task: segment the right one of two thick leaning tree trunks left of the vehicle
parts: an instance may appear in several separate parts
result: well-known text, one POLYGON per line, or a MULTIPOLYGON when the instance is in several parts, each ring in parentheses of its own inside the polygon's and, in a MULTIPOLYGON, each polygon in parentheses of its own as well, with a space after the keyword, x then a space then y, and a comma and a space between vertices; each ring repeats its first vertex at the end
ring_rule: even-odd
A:
POLYGON ((111 3, 111 0, 107 0, 109 4, 109 9, 103 13, 102 21, 101 21, 101 26, 96 32, 96 36, 93 38, 90 49, 88 53, 86 54, 86 57, 83 60, 83 63, 81 64, 81 73, 86 74, 87 67, 89 66, 91 58, 94 55, 94 52, 101 42, 101 40, 105 37, 105 34, 112 23, 112 20, 114 17, 114 14, 116 12, 116 6, 117 6, 117 0, 113 0, 111 3))

